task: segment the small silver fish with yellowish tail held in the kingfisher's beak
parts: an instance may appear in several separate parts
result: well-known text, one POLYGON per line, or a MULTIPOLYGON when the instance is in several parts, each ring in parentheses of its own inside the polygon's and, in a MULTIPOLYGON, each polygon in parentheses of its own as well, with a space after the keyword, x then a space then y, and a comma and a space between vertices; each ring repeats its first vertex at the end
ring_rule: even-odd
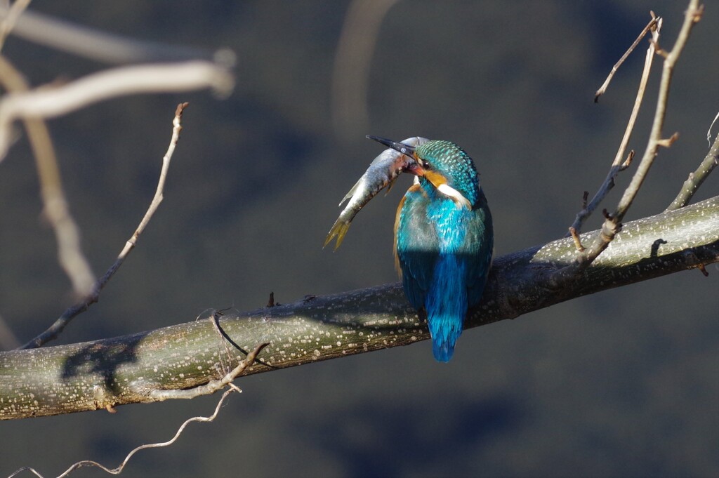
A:
MULTIPOLYGON (((415 136, 405 139, 403 143, 408 146, 417 147, 428 141, 429 139, 415 136)), ((362 178, 359 178, 359 181, 352 186, 349 193, 344 196, 342 201, 339 201, 339 206, 342 206, 342 203, 349 199, 347 206, 339 213, 339 218, 334 221, 332 229, 329 230, 323 247, 326 247, 326 245, 336 237, 337 242, 334 244, 334 249, 336 250, 339 244, 342 244, 344 235, 347 234, 347 229, 349 229, 349 224, 352 223, 352 219, 354 219, 354 216, 357 215, 359 210, 365 207, 365 205, 385 187, 389 186, 389 188, 392 188, 392 184, 400 173, 413 164, 415 164, 413 158, 390 148, 375 157, 375 160, 370 163, 370 167, 367 168, 362 178)))

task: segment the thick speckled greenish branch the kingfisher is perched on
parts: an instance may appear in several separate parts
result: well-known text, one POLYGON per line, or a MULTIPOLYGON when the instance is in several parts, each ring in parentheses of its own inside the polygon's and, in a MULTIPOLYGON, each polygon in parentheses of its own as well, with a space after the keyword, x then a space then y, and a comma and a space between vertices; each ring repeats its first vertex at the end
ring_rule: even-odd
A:
MULTIPOLYGON (((719 262, 719 196, 625 224, 578 280, 546 288, 547 275, 576 253, 567 238, 495 259, 485 297, 467 318, 467 328, 719 262)), ((220 325, 245 351, 270 344, 249 374, 429 338, 399 284, 224 316, 220 325)), ((83 344, 0 352, 0 418, 150 402, 155 390, 203 385, 244 358, 237 352, 239 357, 228 361, 221 340, 209 319, 83 344)))

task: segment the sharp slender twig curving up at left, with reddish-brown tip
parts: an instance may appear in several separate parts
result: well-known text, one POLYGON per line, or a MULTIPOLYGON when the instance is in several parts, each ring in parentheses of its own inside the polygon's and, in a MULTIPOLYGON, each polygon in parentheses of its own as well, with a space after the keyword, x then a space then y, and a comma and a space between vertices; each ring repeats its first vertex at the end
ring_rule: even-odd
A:
POLYGON ((132 234, 130 239, 128 239, 125 243, 125 247, 117 256, 117 259, 115 259, 114 264, 111 265, 107 272, 105 272, 105 275, 102 276, 95 283, 92 288, 92 293, 90 295, 86 295, 83 300, 68 308, 68 310, 66 310, 63 315, 60 316, 60 318, 58 318, 58 320, 55 321, 52 326, 50 326, 50 328, 47 328, 46 331, 35 337, 35 339, 32 339, 27 344, 24 344, 24 346, 22 346, 22 349, 35 349, 42 346, 43 344, 46 344, 48 341, 57 338, 58 335, 63 331, 65 326, 67 326, 68 323, 70 323, 70 321, 75 318, 75 316, 77 316, 83 311, 86 311, 88 307, 90 307, 90 305, 92 305, 93 303, 96 303, 99 298, 100 291, 105 287, 107 282, 109 282, 112 275, 114 275, 116 270, 119 269, 124 260, 127 258, 127 255, 135 247, 135 244, 137 244, 137 239, 139 239, 139 236, 140 234, 142 234, 142 231, 145 231, 145 226, 147 226, 147 223, 150 222, 150 219, 152 219, 152 215, 155 213, 157 207, 160 206, 160 203, 162 202, 162 190, 164 190, 165 188, 165 179, 167 178, 168 169, 170 168, 170 160, 172 160, 173 152, 175 152, 175 145, 180 138, 180 131, 182 130, 182 114, 187 106, 187 103, 181 103, 175 110, 175 119, 173 119, 173 135, 170 139, 168 151, 165 153, 165 156, 162 157, 162 170, 160 171, 160 180, 157 181, 155 197, 152 198, 152 203, 150 203, 150 207, 147 208, 145 216, 142 218, 142 221, 140 221, 140 224, 139 226, 137 226, 137 229, 134 231, 134 234, 132 234))

